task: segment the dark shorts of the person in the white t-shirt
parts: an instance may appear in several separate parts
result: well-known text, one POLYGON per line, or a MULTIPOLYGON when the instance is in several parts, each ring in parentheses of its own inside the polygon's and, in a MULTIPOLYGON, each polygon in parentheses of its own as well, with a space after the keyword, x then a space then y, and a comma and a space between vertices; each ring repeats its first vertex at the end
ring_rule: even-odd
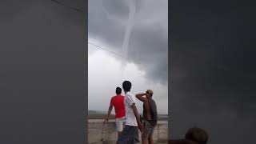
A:
POLYGON ((139 142, 138 127, 126 125, 118 137, 117 144, 134 144, 136 142, 139 142))

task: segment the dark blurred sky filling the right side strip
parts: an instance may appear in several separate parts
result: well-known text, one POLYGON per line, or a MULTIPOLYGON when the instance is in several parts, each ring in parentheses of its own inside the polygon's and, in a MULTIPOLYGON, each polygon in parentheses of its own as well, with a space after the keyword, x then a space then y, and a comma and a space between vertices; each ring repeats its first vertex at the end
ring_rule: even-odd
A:
POLYGON ((254 143, 251 4, 176 1, 170 9, 171 133, 181 137, 197 125, 209 131, 210 143, 254 143))

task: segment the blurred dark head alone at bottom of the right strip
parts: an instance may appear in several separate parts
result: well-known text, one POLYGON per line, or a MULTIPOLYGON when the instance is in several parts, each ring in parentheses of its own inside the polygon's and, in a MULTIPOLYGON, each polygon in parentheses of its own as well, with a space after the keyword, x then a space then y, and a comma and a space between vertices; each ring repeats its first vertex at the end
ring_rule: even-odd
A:
POLYGON ((208 141, 208 134, 205 130, 194 127, 187 130, 185 138, 194 142, 198 142, 198 144, 206 144, 208 141))

